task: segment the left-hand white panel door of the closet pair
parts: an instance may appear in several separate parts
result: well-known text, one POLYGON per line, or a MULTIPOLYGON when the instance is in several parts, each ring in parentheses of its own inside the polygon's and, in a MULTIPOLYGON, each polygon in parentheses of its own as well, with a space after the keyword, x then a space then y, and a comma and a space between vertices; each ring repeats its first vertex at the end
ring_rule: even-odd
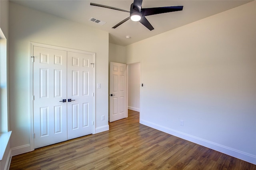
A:
POLYGON ((34 148, 67 140, 67 52, 34 47, 34 148))

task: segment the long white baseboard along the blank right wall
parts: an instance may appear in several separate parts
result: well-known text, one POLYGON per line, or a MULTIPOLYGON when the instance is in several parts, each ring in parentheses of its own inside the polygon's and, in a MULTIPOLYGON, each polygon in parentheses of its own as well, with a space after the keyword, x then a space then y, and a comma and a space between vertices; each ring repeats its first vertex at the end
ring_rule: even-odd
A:
POLYGON ((213 143, 211 141, 206 141, 204 139, 200 139, 198 137, 194 137, 194 136, 188 135, 186 133, 175 131, 173 129, 170 129, 170 128, 167 128, 167 127, 164 127, 164 126, 161 126, 161 125, 157 125, 155 123, 152 123, 152 122, 149 122, 149 121, 146 121, 146 120, 140 119, 140 123, 142 125, 146 125, 148 127, 152 127, 152 128, 157 129, 159 131, 168 133, 170 135, 174 135, 176 137, 179 137, 179 138, 185 139, 187 141, 196 143, 198 145, 202 145, 204 147, 207 147, 207 148, 216 150, 218 152, 222 152, 224 154, 233 156, 235 158, 244 160, 246 162, 256 164, 256 156, 255 155, 247 154, 247 153, 241 152, 239 150, 235 150, 235 149, 232 149, 232 148, 229 148, 229 147, 225 147, 223 145, 219 145, 217 143, 213 143))

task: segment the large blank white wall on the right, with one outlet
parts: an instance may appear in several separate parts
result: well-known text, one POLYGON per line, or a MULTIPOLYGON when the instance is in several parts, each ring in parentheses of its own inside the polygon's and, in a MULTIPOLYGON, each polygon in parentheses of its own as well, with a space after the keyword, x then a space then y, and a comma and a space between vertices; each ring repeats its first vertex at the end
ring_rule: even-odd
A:
POLYGON ((140 123, 256 164, 255 30, 253 1, 128 45, 140 123))

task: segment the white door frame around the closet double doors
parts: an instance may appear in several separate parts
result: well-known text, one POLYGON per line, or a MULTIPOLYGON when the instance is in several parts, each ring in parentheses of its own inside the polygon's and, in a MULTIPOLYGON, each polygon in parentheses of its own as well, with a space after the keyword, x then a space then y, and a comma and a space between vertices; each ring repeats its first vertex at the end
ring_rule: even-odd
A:
POLYGON ((34 46, 37 47, 44 47, 44 48, 50 48, 50 49, 57 49, 57 50, 63 50, 63 51, 71 51, 74 53, 83 53, 92 55, 92 61, 93 61, 93 71, 92 71, 92 89, 93 89, 93 96, 92 96, 92 134, 96 133, 96 127, 95 127, 95 53, 88 52, 88 51, 82 51, 77 49, 70 49, 66 47, 58 47, 54 45, 48 45, 48 44, 42 44, 42 43, 36 43, 36 42, 30 42, 30 151, 34 150, 34 112, 33 112, 33 48, 34 46))

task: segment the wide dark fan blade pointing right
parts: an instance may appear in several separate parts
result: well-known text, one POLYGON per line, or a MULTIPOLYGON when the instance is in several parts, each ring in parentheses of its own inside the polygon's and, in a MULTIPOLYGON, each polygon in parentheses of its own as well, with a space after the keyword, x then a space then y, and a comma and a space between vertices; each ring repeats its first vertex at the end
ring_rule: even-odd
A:
POLYGON ((182 11, 183 6, 166 6, 166 7, 157 7, 157 8, 142 8, 142 16, 151 16, 155 14, 162 14, 166 12, 182 11))

